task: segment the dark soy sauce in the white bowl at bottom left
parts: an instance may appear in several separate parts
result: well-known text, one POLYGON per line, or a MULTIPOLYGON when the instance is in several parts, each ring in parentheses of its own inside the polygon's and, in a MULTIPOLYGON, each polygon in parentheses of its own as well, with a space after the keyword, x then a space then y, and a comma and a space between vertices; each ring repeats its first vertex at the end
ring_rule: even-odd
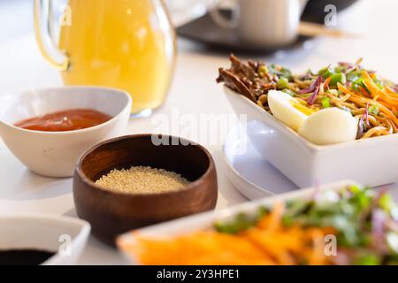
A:
POLYGON ((40 265, 55 253, 36 249, 0 250, 0 265, 40 265))

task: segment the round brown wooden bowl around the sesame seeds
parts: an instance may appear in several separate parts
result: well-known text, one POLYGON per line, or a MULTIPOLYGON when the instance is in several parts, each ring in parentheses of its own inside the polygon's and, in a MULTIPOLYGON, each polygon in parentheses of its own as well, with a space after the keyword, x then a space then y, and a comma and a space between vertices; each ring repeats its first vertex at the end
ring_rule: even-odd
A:
POLYGON ((207 149, 168 135, 136 134, 102 142, 82 157, 73 178, 77 214, 93 235, 111 246, 135 228, 213 210, 218 199, 217 172, 207 149), (115 193, 96 185, 113 169, 150 166, 177 172, 191 183, 160 194, 115 193))

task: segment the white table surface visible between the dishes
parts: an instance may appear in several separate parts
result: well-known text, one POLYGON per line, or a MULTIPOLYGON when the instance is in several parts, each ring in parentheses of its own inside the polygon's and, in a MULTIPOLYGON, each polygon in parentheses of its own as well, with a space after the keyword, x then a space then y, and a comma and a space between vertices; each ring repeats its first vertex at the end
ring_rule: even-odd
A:
MULTIPOLYGON (((44 63, 34 42, 32 21, 27 12, 31 9, 30 4, 22 0, 17 0, 16 3, 18 4, 11 5, 0 0, 0 93, 61 86, 62 81, 58 73, 44 63), (4 7, 7 8, 6 12, 4 7), (5 13, 13 13, 15 17, 2 17, 5 13), (12 33, 8 27, 15 27, 15 32, 12 33)), ((279 52, 272 57, 261 58, 268 62, 287 65, 300 72, 309 66, 318 69, 333 62, 355 61, 364 57, 364 63, 370 68, 378 70, 388 78, 396 79, 397 10, 398 2, 394 0, 363 0, 339 14, 340 27, 362 34, 361 37, 339 40, 318 38, 307 44, 305 49, 279 52)), ((126 134, 157 131, 158 119, 172 120, 172 111, 174 114, 178 111, 181 115, 193 115, 195 119, 200 119, 206 114, 233 114, 221 87, 215 83, 218 67, 228 65, 227 53, 203 50, 192 42, 180 40, 179 43, 178 65, 166 103, 152 117, 132 120, 126 134)), ((170 129, 164 130, 165 134, 179 134, 202 142, 210 149, 218 168, 218 209, 246 200, 226 179, 220 154, 226 130, 218 128, 217 142, 210 141, 209 134, 202 133, 197 138, 197 133, 184 132, 183 125, 180 128, 170 126, 170 129)), ((0 180, 0 214, 39 212, 76 216, 72 180, 54 180, 28 172, 6 149, 3 142, 0 142, 0 180)), ((80 258, 80 264, 122 263, 117 251, 93 238, 88 241, 88 247, 80 258)))

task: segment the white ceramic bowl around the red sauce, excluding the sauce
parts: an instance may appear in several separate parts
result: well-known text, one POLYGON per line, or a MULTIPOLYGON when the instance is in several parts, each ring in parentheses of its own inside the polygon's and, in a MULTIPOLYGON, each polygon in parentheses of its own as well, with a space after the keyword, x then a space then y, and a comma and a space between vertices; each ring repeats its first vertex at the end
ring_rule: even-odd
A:
POLYGON ((112 88, 67 87, 29 90, 0 96, 0 135, 32 172, 71 177, 82 153, 98 142, 125 134, 132 99, 112 88), (16 122, 43 114, 88 108, 111 115, 98 126, 69 132, 30 131, 16 122))

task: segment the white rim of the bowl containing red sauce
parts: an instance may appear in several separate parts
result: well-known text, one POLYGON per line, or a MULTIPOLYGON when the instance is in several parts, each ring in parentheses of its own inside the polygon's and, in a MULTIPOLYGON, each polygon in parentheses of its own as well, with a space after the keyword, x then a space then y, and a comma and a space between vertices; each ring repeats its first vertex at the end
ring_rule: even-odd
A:
POLYGON ((66 86, 66 87, 59 87, 59 88, 35 88, 35 89, 27 90, 27 91, 19 91, 17 93, 11 94, 11 95, 0 96, 0 101, 3 100, 3 99, 6 100, 6 99, 8 99, 9 97, 12 97, 12 96, 23 95, 26 92, 43 91, 43 90, 59 90, 59 89, 93 89, 93 90, 102 89, 102 90, 110 90, 112 92, 119 92, 120 94, 123 94, 124 96, 126 96, 127 103, 123 107, 123 109, 121 111, 119 111, 118 114, 113 116, 108 121, 106 121, 106 122, 104 122, 102 124, 96 125, 96 126, 90 126, 90 127, 84 128, 84 129, 74 130, 74 131, 63 131, 63 132, 34 131, 34 130, 27 130, 27 129, 24 129, 24 128, 21 128, 21 127, 18 127, 18 126, 11 125, 10 123, 5 122, 3 119, 0 119, 0 122, 3 123, 5 126, 8 126, 8 127, 12 128, 12 129, 19 130, 21 132, 26 132, 26 133, 48 134, 48 135, 54 135, 54 134, 62 134, 62 135, 64 135, 64 134, 82 134, 82 133, 90 132, 90 131, 96 130, 96 129, 100 128, 100 127, 103 127, 103 126, 111 124, 115 119, 119 119, 119 116, 124 111, 126 111, 126 108, 131 108, 131 105, 133 103, 132 97, 125 90, 121 90, 121 89, 118 89, 118 88, 103 88, 103 87, 89 87, 89 86, 66 86))

